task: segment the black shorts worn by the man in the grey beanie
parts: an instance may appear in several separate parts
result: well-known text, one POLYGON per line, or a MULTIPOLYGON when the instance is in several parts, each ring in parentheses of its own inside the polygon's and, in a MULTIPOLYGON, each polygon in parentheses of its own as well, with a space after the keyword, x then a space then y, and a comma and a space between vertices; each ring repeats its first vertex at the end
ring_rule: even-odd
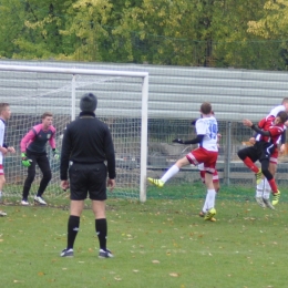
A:
POLYGON ((107 168, 104 163, 80 164, 74 163, 69 168, 70 199, 105 200, 107 168))

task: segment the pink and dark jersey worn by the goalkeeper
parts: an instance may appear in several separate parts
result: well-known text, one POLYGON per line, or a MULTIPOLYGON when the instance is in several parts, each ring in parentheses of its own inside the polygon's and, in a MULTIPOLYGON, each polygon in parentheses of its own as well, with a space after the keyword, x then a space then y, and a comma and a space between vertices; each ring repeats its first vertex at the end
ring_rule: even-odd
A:
POLYGON ((21 140, 21 152, 29 150, 34 153, 45 153, 47 142, 51 148, 55 148, 55 132, 52 125, 48 130, 43 130, 43 124, 33 126, 21 140))

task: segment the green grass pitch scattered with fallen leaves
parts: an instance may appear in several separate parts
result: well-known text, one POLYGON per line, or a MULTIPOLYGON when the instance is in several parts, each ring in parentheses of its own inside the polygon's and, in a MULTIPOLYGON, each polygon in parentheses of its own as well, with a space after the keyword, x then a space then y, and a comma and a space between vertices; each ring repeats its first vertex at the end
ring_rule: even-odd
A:
MULTIPOLYGON (((277 210, 263 209, 251 189, 223 188, 217 222, 210 223, 198 217, 200 188, 195 197, 145 204, 110 198, 113 259, 97 258, 89 208, 69 259, 59 256, 66 244, 68 199, 47 198, 49 207, 0 206, 8 213, 0 218, 1 287, 286 287, 287 200, 277 210)), ((185 186, 167 185, 161 193, 175 189, 185 186)))

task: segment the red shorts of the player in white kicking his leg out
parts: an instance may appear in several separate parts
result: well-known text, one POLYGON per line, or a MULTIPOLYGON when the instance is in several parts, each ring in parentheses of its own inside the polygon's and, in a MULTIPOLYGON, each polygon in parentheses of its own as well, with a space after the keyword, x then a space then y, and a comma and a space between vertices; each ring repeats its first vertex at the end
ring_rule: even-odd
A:
POLYGON ((199 165, 200 163, 204 164, 204 171, 213 174, 216 167, 216 161, 218 157, 217 151, 208 151, 203 147, 198 147, 196 150, 191 151, 186 158, 191 164, 199 165))

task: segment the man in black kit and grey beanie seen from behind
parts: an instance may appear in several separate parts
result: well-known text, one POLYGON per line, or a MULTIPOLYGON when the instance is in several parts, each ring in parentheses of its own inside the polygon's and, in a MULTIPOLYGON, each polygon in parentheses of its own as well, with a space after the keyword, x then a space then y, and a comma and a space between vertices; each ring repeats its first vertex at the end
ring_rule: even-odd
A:
POLYGON ((96 106, 97 99, 94 94, 88 93, 81 97, 79 119, 66 126, 62 142, 61 188, 65 191, 70 187, 71 199, 68 244, 60 254, 62 257, 74 256, 73 246, 80 227, 84 199, 88 195, 92 200, 92 209, 95 215, 95 232, 100 243, 99 257, 113 257, 113 254, 106 248, 105 199, 107 197, 106 185, 111 191, 115 187, 115 153, 107 125, 94 114, 96 106))

